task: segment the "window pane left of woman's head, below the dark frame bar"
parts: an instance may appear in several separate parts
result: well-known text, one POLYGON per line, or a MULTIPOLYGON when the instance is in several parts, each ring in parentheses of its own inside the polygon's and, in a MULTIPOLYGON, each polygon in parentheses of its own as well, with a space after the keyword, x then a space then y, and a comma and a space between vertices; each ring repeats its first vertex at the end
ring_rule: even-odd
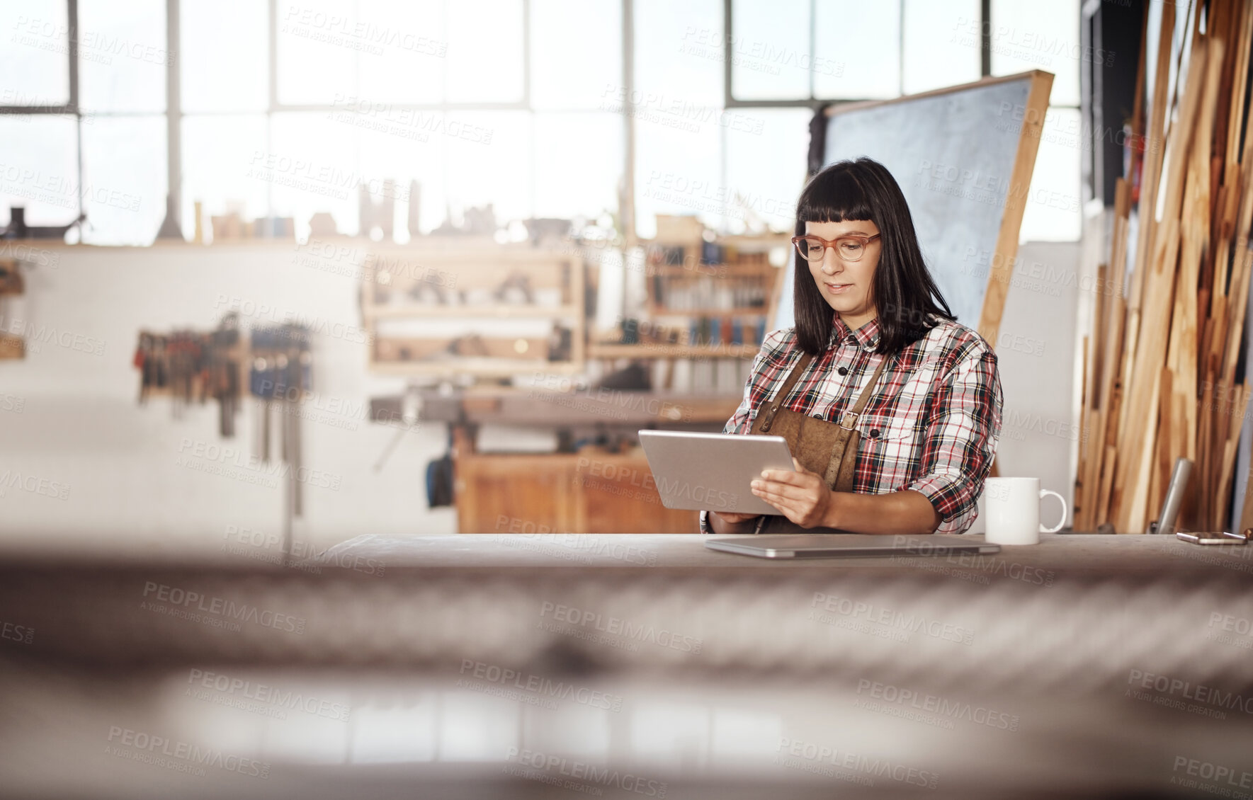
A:
POLYGON ((727 133, 728 233, 791 232, 806 179, 808 109, 751 109, 761 133, 727 133))

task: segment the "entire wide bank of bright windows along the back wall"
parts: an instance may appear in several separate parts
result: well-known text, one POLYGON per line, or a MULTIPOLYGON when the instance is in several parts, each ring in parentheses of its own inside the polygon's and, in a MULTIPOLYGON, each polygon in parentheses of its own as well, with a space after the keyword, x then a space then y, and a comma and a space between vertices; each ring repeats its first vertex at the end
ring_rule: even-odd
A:
MULTIPOLYGON (((392 202, 401 240, 487 204, 506 223, 628 202, 643 237, 657 214, 786 230, 814 108, 1026 69, 1056 74, 1032 188, 1078 208, 1078 3, 990 0, 986 20, 984 5, 0 4, 0 220, 81 213, 85 242, 147 244, 172 193, 187 238, 197 204, 207 237, 232 213, 289 217, 303 237, 325 212, 353 234, 365 187, 392 202)), ((1079 213, 1031 207, 1022 235, 1075 239, 1079 213)))

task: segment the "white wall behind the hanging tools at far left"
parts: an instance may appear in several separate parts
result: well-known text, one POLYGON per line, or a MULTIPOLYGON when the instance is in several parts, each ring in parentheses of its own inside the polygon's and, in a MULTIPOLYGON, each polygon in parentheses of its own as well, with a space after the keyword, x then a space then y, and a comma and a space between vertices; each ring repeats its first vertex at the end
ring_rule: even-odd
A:
MULTIPOLYGON (((336 272, 347 264, 299 265, 296 245, 277 243, 56 247, 38 260, 48 263, 25 273, 26 297, 0 304, 0 328, 29 327, 41 339, 24 361, 0 361, 0 538, 6 543, 219 550, 229 526, 281 532, 283 482, 249 462, 251 398, 234 439, 219 438, 213 401, 192 406, 182 419, 172 418, 168 398, 143 408, 135 402, 139 373, 132 357, 139 329, 213 328, 232 305, 244 312, 246 328, 298 315, 322 329, 313 337, 316 397, 306 404, 316 419, 302 421, 302 429, 304 463, 325 476, 315 473, 306 486, 296 541, 322 547, 362 533, 455 530, 451 510, 426 507, 425 467, 445 449, 445 426, 403 433, 383 469, 373 471, 396 432, 367 422, 368 398, 397 394, 405 381, 366 372, 357 282, 341 274, 346 269, 336 272), (75 349, 75 334, 79 348, 103 347, 103 353, 75 349), (197 458, 197 442, 238 454, 197 458), (178 466, 180 456, 277 486, 178 466), (36 491, 11 486, 16 474, 36 491), (66 498, 40 493, 29 476, 68 485, 66 498), (313 485, 336 478, 337 490, 313 485)), ((53 487, 45 483, 44 491, 53 487)))

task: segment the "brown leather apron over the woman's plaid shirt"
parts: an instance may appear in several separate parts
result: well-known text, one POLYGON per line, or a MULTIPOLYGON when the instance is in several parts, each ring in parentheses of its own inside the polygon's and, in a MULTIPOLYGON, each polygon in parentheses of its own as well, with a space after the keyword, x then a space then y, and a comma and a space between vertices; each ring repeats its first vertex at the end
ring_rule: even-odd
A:
MULTIPOLYGON (((823 481, 828 488, 837 492, 853 491, 857 449, 861 443, 857 421, 875 393, 875 384, 878 383, 878 377, 883 373, 883 368, 888 361, 890 357, 885 357, 878 363, 875 374, 871 376, 870 383, 862 389, 852 408, 841 414, 840 422, 836 423, 827 422, 826 419, 816 419, 808 414, 783 408, 783 401, 787 399, 788 392, 792 391, 801 374, 813 362, 812 354, 803 353, 801 361, 792 368, 783 386, 774 394, 774 399, 758 411, 757 419, 753 421, 749 433, 782 436, 787 439, 788 449, 801 462, 801 466, 823 476, 823 481)), ((766 525, 759 526, 758 532, 778 533, 784 528, 791 528, 792 532, 803 530, 793 525, 787 517, 778 515, 767 517, 766 525), (767 531, 767 526, 772 530, 767 531)), ((809 528, 807 532, 829 530, 809 528)))

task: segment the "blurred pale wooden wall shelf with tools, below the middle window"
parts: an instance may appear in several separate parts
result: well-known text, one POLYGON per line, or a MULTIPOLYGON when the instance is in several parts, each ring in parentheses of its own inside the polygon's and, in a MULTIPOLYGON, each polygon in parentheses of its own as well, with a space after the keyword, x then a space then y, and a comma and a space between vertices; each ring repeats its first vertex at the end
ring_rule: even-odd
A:
POLYGON ((361 294, 370 368, 436 377, 578 373, 584 282, 580 259, 529 243, 372 245, 361 294))

